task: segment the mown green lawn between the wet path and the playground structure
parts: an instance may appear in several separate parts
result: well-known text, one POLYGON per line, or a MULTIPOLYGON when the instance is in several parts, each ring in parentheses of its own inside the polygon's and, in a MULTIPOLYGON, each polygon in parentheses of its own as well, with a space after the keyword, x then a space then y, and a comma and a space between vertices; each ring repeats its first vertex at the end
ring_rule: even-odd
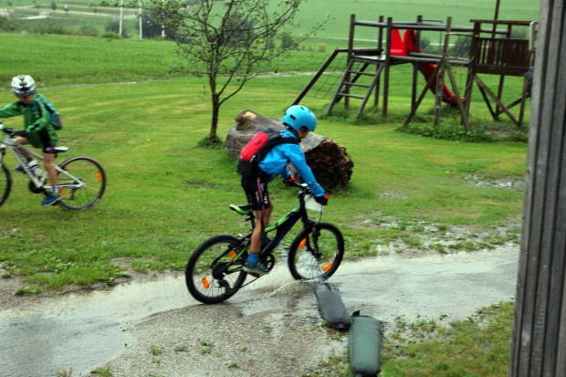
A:
MULTIPOLYGON (((242 110, 279 117, 299 83, 298 78, 256 79, 226 103, 219 135, 224 137, 242 110)), ((205 237, 242 230, 243 224, 227 209, 244 200, 235 161, 224 149, 196 146, 209 129, 202 80, 41 91, 64 114, 61 144, 73 154, 100 160, 109 186, 100 205, 73 213, 41 208, 40 198, 15 174, 13 193, 0 208, 9 219, 0 236, 0 261, 11 274, 39 288, 64 288, 111 281, 121 273, 115 258, 130 258, 144 270, 181 269, 205 237), (65 270, 59 270, 61 264, 65 270)), ((1 102, 11 100, 10 92, 0 92, 1 102)), ((20 122, 5 120, 16 128, 20 122)), ((351 183, 331 195, 326 212, 327 220, 340 225, 349 240, 347 257, 375 254, 378 245, 408 237, 406 229, 383 227, 384 218, 487 232, 497 225, 519 224, 520 188, 478 188, 471 177, 521 178, 524 143, 440 141, 396 128, 387 122, 320 120, 317 133, 343 145, 355 164, 351 183)), ((11 156, 5 162, 15 167, 11 156)), ((294 203, 292 191, 282 185, 274 186, 273 195, 276 215, 294 203)))

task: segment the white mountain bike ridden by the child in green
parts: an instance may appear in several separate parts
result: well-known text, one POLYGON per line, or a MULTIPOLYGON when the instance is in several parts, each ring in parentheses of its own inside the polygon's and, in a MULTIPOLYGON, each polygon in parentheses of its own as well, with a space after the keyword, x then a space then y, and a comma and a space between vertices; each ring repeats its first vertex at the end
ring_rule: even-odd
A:
MULTIPOLYGON (((0 206, 8 199, 12 189, 12 175, 4 162, 5 151, 14 154, 29 178, 28 188, 33 194, 47 194, 51 186, 48 184, 47 172, 37 162, 43 161, 43 156, 26 148, 13 139, 13 129, 5 128, 0 120, 0 131, 5 133, 5 138, 0 144, 0 206), (33 156, 32 162, 28 162, 21 151, 33 156)), ((56 147, 58 153, 67 152, 68 147, 56 147)), ((81 210, 92 207, 99 203, 100 198, 106 190, 106 173, 93 158, 84 155, 72 156, 67 160, 54 163, 58 173, 58 187, 63 199, 58 205, 70 210, 81 210)))

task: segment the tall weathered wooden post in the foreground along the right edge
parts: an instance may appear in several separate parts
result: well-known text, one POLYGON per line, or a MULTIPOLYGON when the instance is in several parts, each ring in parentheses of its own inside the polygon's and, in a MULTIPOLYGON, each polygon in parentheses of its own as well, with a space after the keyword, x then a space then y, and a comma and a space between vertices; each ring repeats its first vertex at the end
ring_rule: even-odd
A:
POLYGON ((565 9, 540 1, 511 377, 566 375, 565 9))

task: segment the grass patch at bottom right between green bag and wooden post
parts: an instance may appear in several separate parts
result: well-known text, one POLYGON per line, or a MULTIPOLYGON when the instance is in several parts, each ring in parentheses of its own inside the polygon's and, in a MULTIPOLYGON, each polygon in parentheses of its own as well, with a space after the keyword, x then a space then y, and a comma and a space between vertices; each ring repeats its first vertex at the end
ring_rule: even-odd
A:
MULTIPOLYGON (((383 340, 383 377, 508 375, 513 304, 500 302, 465 320, 398 318, 383 340)), ((335 355, 305 377, 352 377, 348 355, 335 355)))

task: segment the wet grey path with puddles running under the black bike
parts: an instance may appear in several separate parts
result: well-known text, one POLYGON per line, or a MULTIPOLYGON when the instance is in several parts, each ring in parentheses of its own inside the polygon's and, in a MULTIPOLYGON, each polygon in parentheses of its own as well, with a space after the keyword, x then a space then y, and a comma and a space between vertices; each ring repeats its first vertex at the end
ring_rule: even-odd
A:
MULTIPOLYGON (((518 246, 447 256, 371 257, 343 263, 329 283, 352 312, 383 321, 441 314, 459 319, 513 298, 518 261, 518 246)), ((312 286, 294 281, 280 258, 269 275, 243 288, 230 303, 244 316, 265 312, 274 330, 282 315, 311 313, 317 305, 312 286)), ((57 376, 70 369, 73 376, 86 375, 127 347, 131 335, 124 325, 195 305, 200 304, 188 294, 183 276, 177 276, 1 310, 0 375, 57 376)))

